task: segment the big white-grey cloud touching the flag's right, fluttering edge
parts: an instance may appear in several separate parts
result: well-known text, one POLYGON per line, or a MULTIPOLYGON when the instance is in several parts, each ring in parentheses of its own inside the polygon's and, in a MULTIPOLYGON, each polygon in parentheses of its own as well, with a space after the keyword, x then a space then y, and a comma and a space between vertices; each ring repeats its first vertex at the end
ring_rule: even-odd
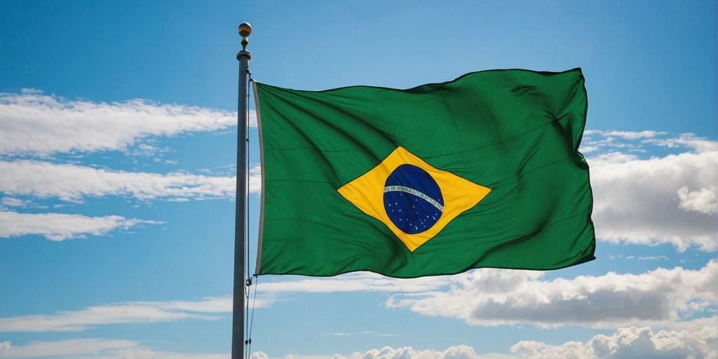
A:
POLYGON ((718 249, 718 143, 691 141, 697 152, 650 159, 613 152, 588 159, 597 238, 671 243, 679 251, 718 249))

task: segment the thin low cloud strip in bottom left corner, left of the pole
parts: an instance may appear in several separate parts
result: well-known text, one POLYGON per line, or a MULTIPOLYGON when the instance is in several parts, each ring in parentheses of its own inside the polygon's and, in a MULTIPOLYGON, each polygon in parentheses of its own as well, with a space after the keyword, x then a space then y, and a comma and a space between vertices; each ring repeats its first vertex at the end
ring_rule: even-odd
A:
POLYGON ((57 359, 228 359, 228 354, 190 354, 150 350, 132 340, 72 339, 29 342, 10 345, 0 342, 0 358, 57 358, 57 359), (6 344, 6 346, 3 346, 6 344))

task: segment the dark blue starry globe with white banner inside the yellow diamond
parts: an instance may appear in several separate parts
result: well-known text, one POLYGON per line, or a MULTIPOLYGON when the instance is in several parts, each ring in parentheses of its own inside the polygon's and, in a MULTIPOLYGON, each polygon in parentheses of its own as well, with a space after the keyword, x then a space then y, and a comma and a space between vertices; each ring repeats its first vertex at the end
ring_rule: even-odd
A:
POLYGON ((402 164, 386 178, 384 210, 402 232, 421 233, 441 218, 444 197, 437 182, 424 169, 402 164))

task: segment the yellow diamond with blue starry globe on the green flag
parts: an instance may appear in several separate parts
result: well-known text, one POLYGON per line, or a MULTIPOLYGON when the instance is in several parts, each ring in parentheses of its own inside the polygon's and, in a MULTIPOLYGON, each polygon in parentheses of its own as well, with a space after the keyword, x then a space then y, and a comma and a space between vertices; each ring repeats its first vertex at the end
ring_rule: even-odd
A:
MULTIPOLYGON (((401 177, 405 178, 407 183, 415 182, 411 178, 407 178, 406 175, 401 177)), ((431 186, 429 185, 429 187, 431 186)), ((488 187, 477 185, 456 174, 432 167, 401 146, 398 146, 369 172, 343 185, 337 191, 364 213, 384 223, 411 252, 416 251, 416 248, 437 236, 454 218, 477 205, 491 192, 488 187), (428 175, 431 178, 428 182, 435 182, 434 186, 438 186, 436 193, 427 195, 411 185, 401 183, 390 185, 388 178, 399 167, 402 169, 418 167, 421 174, 425 172, 425 177, 428 175), (392 208, 392 203, 386 202, 385 192, 396 192, 400 196, 406 194, 406 200, 421 202, 424 208, 429 208, 433 213, 426 213, 426 220, 423 220, 424 213, 421 213, 420 217, 422 218, 417 218, 416 213, 411 213, 413 222, 409 225, 404 222, 407 219, 403 217, 405 213, 393 212, 401 212, 401 208, 406 212, 407 207, 401 207, 397 203, 397 206, 392 208)), ((409 207, 413 206, 409 205, 409 207)))

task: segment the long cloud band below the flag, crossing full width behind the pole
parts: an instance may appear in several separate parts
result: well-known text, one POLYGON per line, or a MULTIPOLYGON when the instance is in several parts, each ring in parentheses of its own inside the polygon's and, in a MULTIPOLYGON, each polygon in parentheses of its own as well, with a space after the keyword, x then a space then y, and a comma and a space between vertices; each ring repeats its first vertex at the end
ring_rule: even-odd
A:
MULTIPOLYGON (((330 279, 261 284, 256 307, 267 307, 279 294, 298 292, 386 292, 387 307, 452 317, 470 325, 581 325, 615 328, 651 325, 690 330, 714 325, 708 317, 718 299, 718 262, 697 270, 655 269, 643 274, 542 279, 543 272, 505 269, 436 278, 389 279, 355 274, 330 279)), ((45 315, 0 318, 0 332, 83 331, 99 325, 214 320, 232 311, 232 298, 200 301, 123 302, 45 315)))

